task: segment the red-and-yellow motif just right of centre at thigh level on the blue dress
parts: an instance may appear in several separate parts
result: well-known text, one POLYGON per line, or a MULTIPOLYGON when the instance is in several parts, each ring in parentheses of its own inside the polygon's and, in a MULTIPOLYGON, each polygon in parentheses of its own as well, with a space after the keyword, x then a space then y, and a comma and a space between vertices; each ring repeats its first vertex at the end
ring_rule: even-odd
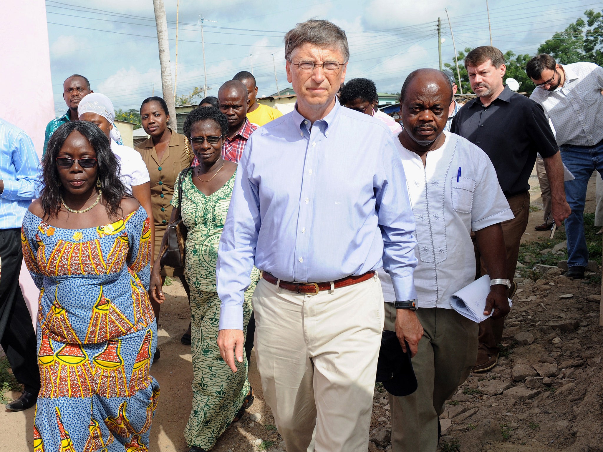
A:
POLYGON ((121 339, 107 342, 105 349, 92 360, 95 363, 95 388, 103 397, 130 397, 125 377, 124 359, 121 357, 121 339))

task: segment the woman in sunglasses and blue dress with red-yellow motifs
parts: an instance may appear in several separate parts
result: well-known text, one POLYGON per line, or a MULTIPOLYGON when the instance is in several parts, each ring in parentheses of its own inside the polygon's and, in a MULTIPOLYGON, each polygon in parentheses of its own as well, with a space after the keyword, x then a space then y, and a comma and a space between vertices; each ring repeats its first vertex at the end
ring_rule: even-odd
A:
POLYGON ((40 289, 34 451, 147 450, 159 397, 150 220, 89 122, 55 131, 43 179, 22 228, 40 289))

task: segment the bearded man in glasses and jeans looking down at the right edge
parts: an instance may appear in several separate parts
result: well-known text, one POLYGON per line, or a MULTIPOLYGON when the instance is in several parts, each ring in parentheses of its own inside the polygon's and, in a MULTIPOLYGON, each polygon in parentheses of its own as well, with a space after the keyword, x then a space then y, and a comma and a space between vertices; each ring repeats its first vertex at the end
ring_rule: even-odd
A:
POLYGON ((603 174, 603 67, 586 62, 561 65, 551 55, 540 54, 528 61, 526 73, 537 88, 530 99, 545 109, 563 163, 575 176, 565 183, 572 209, 565 222, 566 276, 584 278, 589 263, 583 217, 586 187, 593 171, 603 174))

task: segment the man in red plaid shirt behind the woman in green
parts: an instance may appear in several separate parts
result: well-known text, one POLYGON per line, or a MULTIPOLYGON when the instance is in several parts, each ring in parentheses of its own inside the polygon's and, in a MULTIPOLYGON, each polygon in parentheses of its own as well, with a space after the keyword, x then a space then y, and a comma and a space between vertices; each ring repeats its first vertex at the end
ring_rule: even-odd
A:
MULTIPOLYGON (((218 104, 220 111, 228 118, 228 136, 224 137, 222 157, 239 163, 247 140, 257 129, 257 126, 251 124, 247 119, 249 105, 247 87, 238 80, 227 81, 218 90, 218 104)), ((198 164, 197 157, 195 157, 192 166, 198 164)))

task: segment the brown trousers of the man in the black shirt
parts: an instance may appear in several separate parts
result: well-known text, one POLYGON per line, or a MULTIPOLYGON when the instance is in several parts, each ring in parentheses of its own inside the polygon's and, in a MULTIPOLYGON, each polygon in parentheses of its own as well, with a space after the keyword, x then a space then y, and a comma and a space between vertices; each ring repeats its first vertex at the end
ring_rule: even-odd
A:
MULTIPOLYGON (((519 257, 519 244, 523 233, 528 226, 529 218, 529 192, 521 193, 516 196, 507 198, 511 212, 515 218, 502 222, 502 235, 505 239, 505 247, 507 248, 507 279, 513 282, 515 271, 517 269, 517 257, 519 257)), ((478 262, 480 263, 480 274, 487 275, 488 269, 485 266, 484 260, 481 259, 477 243, 474 245, 478 262)), ((479 324, 479 353, 496 354, 498 353, 498 345, 502 339, 502 330, 505 327, 505 317, 485 319, 479 324)))

